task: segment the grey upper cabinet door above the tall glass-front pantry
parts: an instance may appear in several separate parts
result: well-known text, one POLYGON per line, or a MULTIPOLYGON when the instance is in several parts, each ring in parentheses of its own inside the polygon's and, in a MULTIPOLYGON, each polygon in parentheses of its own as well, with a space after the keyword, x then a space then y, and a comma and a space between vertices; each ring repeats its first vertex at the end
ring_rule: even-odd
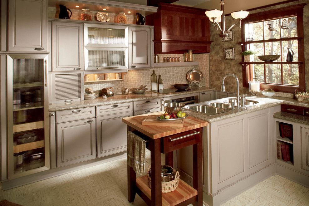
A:
POLYGON ((47 51, 47 0, 8 1, 8 51, 47 51))

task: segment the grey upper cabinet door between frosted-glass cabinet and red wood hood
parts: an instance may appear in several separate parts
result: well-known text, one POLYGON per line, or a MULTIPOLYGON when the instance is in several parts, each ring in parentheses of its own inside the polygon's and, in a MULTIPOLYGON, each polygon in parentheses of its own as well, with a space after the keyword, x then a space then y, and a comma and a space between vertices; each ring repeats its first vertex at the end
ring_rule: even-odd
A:
POLYGON ((129 68, 150 68, 150 28, 129 27, 129 68))

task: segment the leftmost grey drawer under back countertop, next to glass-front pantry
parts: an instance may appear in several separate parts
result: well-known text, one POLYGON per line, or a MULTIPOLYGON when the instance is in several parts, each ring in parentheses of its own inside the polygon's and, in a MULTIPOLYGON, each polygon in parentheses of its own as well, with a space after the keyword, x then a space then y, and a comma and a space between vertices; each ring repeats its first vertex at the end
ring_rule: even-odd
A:
POLYGON ((67 122, 96 117, 95 107, 80 108, 75 110, 65 110, 56 112, 56 122, 67 122))

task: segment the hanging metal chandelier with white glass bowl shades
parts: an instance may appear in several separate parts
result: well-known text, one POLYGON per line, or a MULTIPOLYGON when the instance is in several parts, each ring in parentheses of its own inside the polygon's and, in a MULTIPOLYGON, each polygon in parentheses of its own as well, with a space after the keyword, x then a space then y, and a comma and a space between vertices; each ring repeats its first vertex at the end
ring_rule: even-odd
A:
MULTIPOLYGON (((225 41, 225 37, 228 36, 228 33, 233 26, 235 26, 236 24, 233 24, 231 27, 228 28, 228 30, 225 30, 225 22, 224 22, 224 0, 221 0, 220 2, 221 4, 221 10, 207 10, 205 12, 206 16, 209 18, 209 20, 211 22, 213 22, 213 27, 215 27, 215 29, 218 31, 218 29, 220 29, 221 33, 219 34, 219 37, 222 38, 222 42, 225 41), (219 25, 219 22, 221 22, 221 27, 219 25)), ((239 19, 239 27, 241 27, 241 20, 246 18, 248 16, 249 12, 248 11, 236 11, 236 12, 232 12, 231 16, 234 19, 239 19)))

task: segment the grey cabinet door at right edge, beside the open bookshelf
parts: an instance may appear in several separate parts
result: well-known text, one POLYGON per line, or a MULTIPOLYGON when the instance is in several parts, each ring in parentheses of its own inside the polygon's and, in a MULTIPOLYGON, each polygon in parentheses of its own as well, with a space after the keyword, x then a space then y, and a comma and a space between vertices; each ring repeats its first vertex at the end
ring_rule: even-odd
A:
POLYGON ((301 127, 302 169, 309 171, 309 128, 301 127))

